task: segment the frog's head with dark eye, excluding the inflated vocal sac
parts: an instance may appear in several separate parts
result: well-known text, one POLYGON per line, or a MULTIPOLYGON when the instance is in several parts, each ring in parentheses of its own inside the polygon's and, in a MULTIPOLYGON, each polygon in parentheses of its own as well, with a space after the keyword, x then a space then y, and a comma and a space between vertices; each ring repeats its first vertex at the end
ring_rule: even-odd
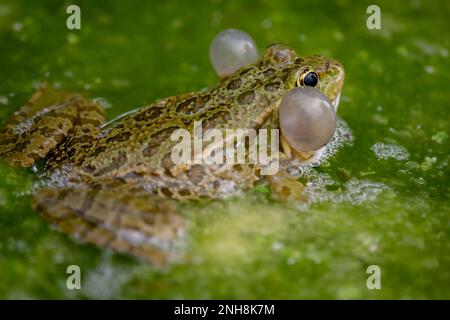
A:
POLYGON ((344 83, 344 68, 338 61, 321 56, 300 57, 282 44, 269 46, 262 59, 283 73, 285 91, 300 86, 315 87, 337 109, 344 83))

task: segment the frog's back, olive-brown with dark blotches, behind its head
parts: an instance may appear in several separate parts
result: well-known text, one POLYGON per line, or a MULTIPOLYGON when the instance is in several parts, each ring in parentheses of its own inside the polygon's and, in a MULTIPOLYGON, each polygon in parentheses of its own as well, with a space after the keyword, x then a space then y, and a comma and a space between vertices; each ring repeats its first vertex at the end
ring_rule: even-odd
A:
MULTIPOLYGON (((289 70, 288 70, 289 71, 289 70)), ((193 132, 194 122, 210 128, 257 128, 268 106, 284 91, 285 68, 260 61, 245 67, 209 91, 174 96, 144 107, 103 132, 78 163, 94 176, 172 168, 170 139, 177 129, 193 132)))

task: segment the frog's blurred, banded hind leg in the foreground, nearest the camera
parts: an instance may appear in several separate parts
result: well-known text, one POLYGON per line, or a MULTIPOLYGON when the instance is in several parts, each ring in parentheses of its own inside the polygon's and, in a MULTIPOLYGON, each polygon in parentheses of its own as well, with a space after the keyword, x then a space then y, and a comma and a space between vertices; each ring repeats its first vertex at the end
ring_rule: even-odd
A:
POLYGON ((169 199, 139 190, 43 188, 33 208, 60 231, 162 266, 185 228, 169 199))

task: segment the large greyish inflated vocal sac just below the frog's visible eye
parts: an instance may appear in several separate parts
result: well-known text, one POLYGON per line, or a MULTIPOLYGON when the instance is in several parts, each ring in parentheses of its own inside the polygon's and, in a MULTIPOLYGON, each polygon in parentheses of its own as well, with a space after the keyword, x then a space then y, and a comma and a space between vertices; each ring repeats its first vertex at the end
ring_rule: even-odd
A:
POLYGON ((279 118, 283 137, 299 152, 320 149, 336 130, 333 105, 312 87, 290 90, 281 101, 279 118))

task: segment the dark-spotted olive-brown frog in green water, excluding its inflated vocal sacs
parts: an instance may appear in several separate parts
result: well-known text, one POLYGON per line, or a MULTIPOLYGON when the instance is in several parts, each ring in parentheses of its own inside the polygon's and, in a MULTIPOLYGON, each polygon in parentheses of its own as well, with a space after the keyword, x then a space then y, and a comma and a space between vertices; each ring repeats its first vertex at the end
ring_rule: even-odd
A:
MULTIPOLYGON (((187 221, 180 204, 246 192, 269 180, 274 192, 301 193, 285 171, 266 179, 258 164, 172 161, 174 130, 279 128, 277 108, 289 90, 314 86, 337 108, 344 69, 336 60, 300 56, 283 44, 266 48, 210 89, 158 100, 106 122, 105 111, 83 94, 43 85, 0 132, 0 159, 21 168, 43 163, 45 183, 31 206, 57 230, 82 243, 166 265, 187 221)), ((281 167, 311 158, 281 143, 281 167)))

